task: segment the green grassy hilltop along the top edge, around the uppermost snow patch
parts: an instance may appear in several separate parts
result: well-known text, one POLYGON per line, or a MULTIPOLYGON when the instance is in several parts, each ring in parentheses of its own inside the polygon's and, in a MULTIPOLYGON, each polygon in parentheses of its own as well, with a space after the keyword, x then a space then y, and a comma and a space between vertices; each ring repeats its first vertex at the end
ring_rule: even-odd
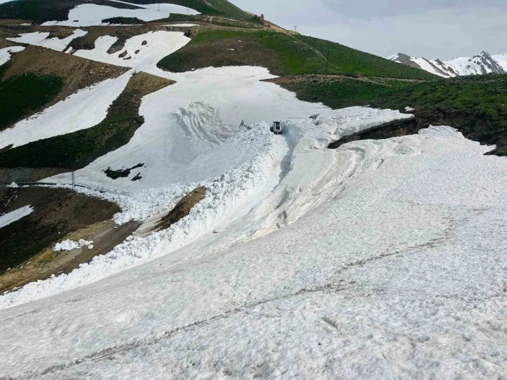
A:
MULTIPOLYGON (((131 3, 147 4, 153 0, 132 0, 131 3)), ((0 18, 23 20, 67 20, 68 11, 84 3, 96 3, 114 6, 115 8, 135 8, 128 4, 108 0, 16 0, 0 4, 0 18)), ((249 20, 251 16, 227 0, 161 0, 161 3, 173 3, 188 6, 203 15, 230 17, 238 20, 249 20)))

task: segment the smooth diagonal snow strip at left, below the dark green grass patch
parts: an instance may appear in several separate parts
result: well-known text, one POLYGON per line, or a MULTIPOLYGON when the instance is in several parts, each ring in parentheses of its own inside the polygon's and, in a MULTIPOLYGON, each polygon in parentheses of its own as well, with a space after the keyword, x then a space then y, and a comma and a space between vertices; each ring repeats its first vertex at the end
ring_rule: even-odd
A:
POLYGON ((0 132, 0 149, 91 128, 105 119, 108 108, 122 94, 131 73, 107 79, 75 92, 59 103, 0 132))

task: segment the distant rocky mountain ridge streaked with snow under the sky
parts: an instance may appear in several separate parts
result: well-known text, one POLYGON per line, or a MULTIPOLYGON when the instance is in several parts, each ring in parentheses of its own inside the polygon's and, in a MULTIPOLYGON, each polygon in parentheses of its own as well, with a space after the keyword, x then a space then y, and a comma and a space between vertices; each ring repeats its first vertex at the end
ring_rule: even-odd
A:
POLYGON ((507 54, 490 55, 483 51, 473 57, 440 59, 416 58, 398 53, 386 57, 390 61, 398 62, 415 68, 421 68, 429 73, 452 78, 462 75, 505 74, 507 73, 507 54))

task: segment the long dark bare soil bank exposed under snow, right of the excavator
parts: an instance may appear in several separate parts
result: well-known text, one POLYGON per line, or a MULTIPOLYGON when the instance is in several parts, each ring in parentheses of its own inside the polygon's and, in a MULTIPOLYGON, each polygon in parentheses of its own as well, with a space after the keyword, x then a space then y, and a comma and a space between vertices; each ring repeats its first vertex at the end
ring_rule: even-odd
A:
POLYGON ((383 140, 385 138, 414 135, 418 133, 420 129, 425 129, 428 126, 429 124, 424 123, 417 117, 412 117, 411 119, 395 120, 394 122, 388 122, 379 126, 374 126, 373 128, 367 129, 366 131, 354 133, 353 135, 346 136, 335 142, 331 142, 328 147, 330 149, 337 149, 337 147, 341 147, 341 145, 352 141, 383 140))

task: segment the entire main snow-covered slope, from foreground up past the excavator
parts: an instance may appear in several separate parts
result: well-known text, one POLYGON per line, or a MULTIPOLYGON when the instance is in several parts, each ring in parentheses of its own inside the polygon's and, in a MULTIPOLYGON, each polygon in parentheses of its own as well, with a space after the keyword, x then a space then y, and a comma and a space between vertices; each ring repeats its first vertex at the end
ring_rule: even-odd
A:
MULTIPOLYGON (((507 377, 505 158, 446 126, 328 149, 411 115, 298 101, 265 68, 166 73, 156 57, 185 43, 170 36, 131 67, 176 84, 143 98, 145 123, 77 189, 143 228, 199 185, 205 199, 0 295, 0 378, 507 377), (139 181, 103 173, 138 163, 139 181)), ((104 47, 94 59, 120 58, 104 47)))

